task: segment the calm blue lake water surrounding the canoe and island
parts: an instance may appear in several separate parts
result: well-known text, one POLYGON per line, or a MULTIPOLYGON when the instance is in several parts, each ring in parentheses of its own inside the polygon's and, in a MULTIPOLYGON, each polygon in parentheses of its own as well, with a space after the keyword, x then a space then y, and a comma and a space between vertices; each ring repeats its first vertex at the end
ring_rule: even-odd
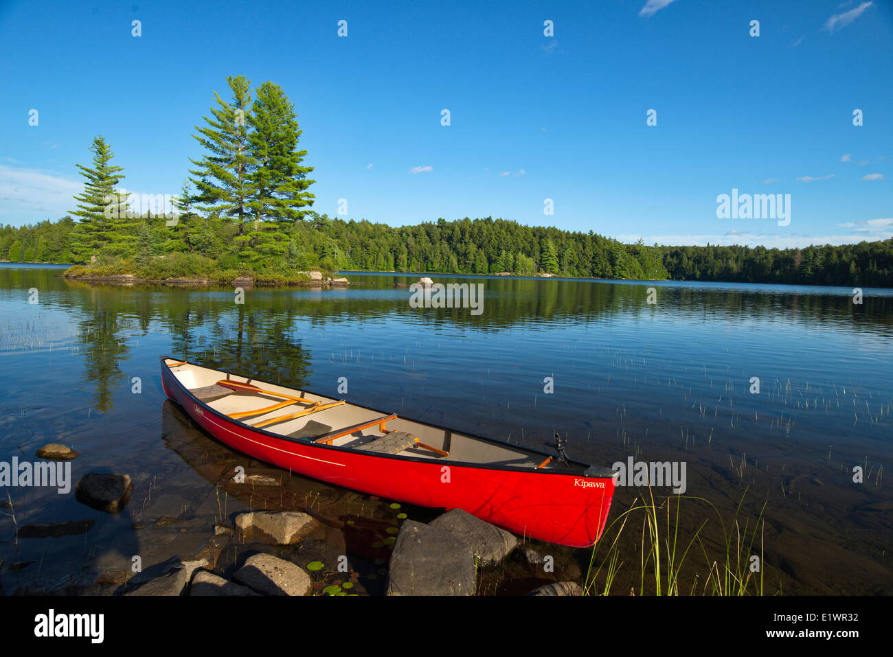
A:
MULTIPOLYGON (((884 481, 893 476, 893 291, 865 289, 857 305, 852 289, 837 287, 432 277, 483 283, 474 316, 411 308, 409 290, 394 284, 417 277, 350 274, 364 285, 249 289, 235 304, 229 288, 97 286, 58 273, 0 267, 0 461, 63 442, 81 453, 75 480, 126 472, 134 492, 128 511, 109 516, 74 495, 0 491, 15 512, 13 521, 0 510, 7 593, 103 581, 134 553, 148 565, 195 551, 206 535, 188 522, 267 508, 224 486, 222 473, 242 457, 164 403, 161 354, 513 443, 541 446, 559 432, 583 461, 687 462, 686 495, 718 511, 683 500, 683 533, 705 519, 707 531, 720 516, 728 524, 742 497, 752 526, 766 504, 766 593, 893 590, 884 481), (146 533, 159 518, 185 528, 146 533), (96 525, 14 538, 16 525, 63 520, 96 525)), ((368 497, 294 479, 288 490, 314 510, 389 521, 368 497)), ((636 492, 619 490, 614 508, 636 492)), ((355 536, 346 541, 363 552, 355 536)), ((703 578, 698 559, 691 575, 703 578)))

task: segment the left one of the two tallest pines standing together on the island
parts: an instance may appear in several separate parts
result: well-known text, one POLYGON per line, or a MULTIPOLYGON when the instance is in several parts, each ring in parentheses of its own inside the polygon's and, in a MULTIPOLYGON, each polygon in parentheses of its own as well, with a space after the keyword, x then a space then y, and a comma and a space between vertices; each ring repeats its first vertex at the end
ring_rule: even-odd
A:
MULTIPOLYGON (((251 80, 245 76, 230 76, 227 83, 232 91, 232 103, 225 102, 216 92, 216 106, 211 108, 213 119, 203 117, 207 126, 196 126, 196 141, 208 151, 201 160, 190 160, 198 167, 189 170, 195 178, 194 202, 204 206, 207 212, 227 217, 238 223, 238 235, 245 233, 244 224, 249 219, 248 202, 251 187, 248 169, 251 166, 251 148, 248 143, 248 122, 251 111, 251 80)), ((238 239, 244 245, 246 238, 238 239)))

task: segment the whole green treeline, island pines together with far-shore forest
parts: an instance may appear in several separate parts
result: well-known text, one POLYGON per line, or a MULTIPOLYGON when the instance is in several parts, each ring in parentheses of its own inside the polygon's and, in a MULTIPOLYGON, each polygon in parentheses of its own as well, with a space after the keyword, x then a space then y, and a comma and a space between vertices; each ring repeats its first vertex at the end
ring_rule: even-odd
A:
MULTIPOLYGON (((75 263, 66 275, 290 283, 309 270, 514 274, 592 279, 707 280, 893 287, 893 239, 773 249, 622 244, 589 230, 491 217, 391 227, 313 212, 313 167, 279 85, 227 79, 196 126, 203 154, 171 207, 134 212, 124 169, 93 140, 74 209, 60 220, 0 227, 0 259, 75 263)), ((139 208, 139 206, 137 205, 139 208)))

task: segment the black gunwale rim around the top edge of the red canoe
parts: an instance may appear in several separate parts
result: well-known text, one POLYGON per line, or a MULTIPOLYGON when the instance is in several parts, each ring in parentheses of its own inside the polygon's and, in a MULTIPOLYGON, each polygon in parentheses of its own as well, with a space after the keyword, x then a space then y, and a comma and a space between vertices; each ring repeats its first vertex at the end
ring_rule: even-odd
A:
MULTIPOLYGON (((206 367, 199 365, 195 362, 188 362, 188 361, 179 362, 179 359, 173 358, 172 356, 159 356, 159 360, 161 361, 164 368, 167 367, 166 361, 177 361, 178 366, 179 365, 195 365, 196 367, 201 367, 205 370, 213 370, 213 368, 206 368, 206 367)), ((227 371, 223 371, 223 370, 213 370, 213 371, 218 371, 218 372, 221 372, 221 374, 225 374, 225 375, 229 374, 229 375, 236 376, 236 377, 254 380, 253 377, 249 377, 246 374, 239 374, 238 372, 227 372, 227 371)), ((210 412, 215 417, 219 418, 220 420, 223 420, 224 422, 226 422, 226 424, 228 426, 247 428, 252 432, 262 435, 263 437, 269 437, 269 438, 273 438, 275 440, 281 440, 281 441, 284 441, 285 443, 295 443, 297 445, 311 446, 311 447, 314 447, 314 448, 320 449, 320 450, 331 450, 331 451, 338 452, 338 453, 363 453, 364 456, 368 456, 371 458, 396 459, 398 461, 403 461, 403 462, 408 461, 408 462, 417 462, 417 463, 425 463, 425 464, 430 464, 432 462, 431 459, 426 459, 426 458, 422 458, 419 456, 412 456, 412 455, 401 456, 401 455, 397 455, 397 454, 375 453, 375 452, 368 452, 368 451, 363 451, 363 450, 356 450, 356 449, 352 449, 352 448, 344 447, 344 446, 315 443, 315 442, 313 442, 313 440, 308 440, 306 438, 293 438, 293 437, 288 437, 288 436, 283 436, 281 434, 273 433, 272 431, 269 431, 264 428, 251 427, 250 425, 246 425, 244 422, 234 420, 233 418, 230 418, 228 415, 212 408, 210 405, 208 405, 208 403, 203 402, 198 397, 196 397, 196 395, 193 395, 192 391, 189 390, 189 388, 186 387, 183 384, 183 382, 180 381, 179 378, 172 371, 170 373, 171 373, 171 378, 173 379, 174 383, 177 386, 179 386, 179 388, 188 396, 188 398, 192 401, 192 403, 200 406, 204 412, 210 412)), ((329 395, 322 395, 321 393, 315 393, 315 392, 313 392, 313 390, 309 390, 309 389, 302 389, 301 392, 308 393, 310 395, 318 395, 321 397, 330 398, 329 395)), ((363 408, 368 411, 380 412, 382 415, 389 414, 388 412, 381 411, 380 409, 372 408, 371 406, 361 406, 360 404, 357 404, 357 403, 353 403, 352 405, 357 406, 358 408, 363 408)), ((453 428, 441 427, 436 424, 431 424, 430 422, 424 422, 422 420, 415 420, 414 418, 410 418, 410 417, 407 417, 404 415, 399 415, 398 417, 402 420, 409 420, 412 422, 417 422, 417 423, 424 425, 426 427, 435 428, 435 429, 442 430, 442 431, 455 431, 455 429, 453 429, 453 428)), ((529 453, 539 454, 542 456, 551 456, 551 457, 555 458, 554 453, 542 452, 536 448, 526 447, 526 446, 522 446, 522 445, 510 445, 503 441, 497 440, 496 438, 486 437, 486 436, 478 436, 476 434, 472 434, 472 433, 469 433, 466 431, 456 432, 456 433, 461 433, 462 436, 466 436, 466 437, 469 437, 472 439, 477 439, 477 440, 483 440, 488 443, 492 443, 494 445, 512 447, 513 449, 520 448, 520 449, 522 449, 526 452, 529 452, 529 453)), ((512 472, 523 472, 523 473, 527 473, 527 474, 531 474, 531 475, 559 475, 559 476, 563 476, 563 477, 572 476, 572 477, 577 477, 577 478, 591 478, 591 479, 611 479, 612 478, 612 476, 610 474, 605 474, 605 476, 595 476, 595 477, 593 477, 592 475, 587 475, 586 474, 587 471, 605 470, 605 472, 610 472, 610 470, 607 468, 604 468, 603 466, 591 465, 587 462, 581 462, 581 461, 576 461, 576 460, 572 460, 572 459, 569 459, 568 462, 570 462, 574 465, 581 466, 583 468, 582 471, 572 470, 572 469, 557 469, 557 468, 551 469, 551 470, 545 470, 545 469, 539 470, 536 468, 531 469, 530 467, 521 467, 521 466, 517 466, 517 465, 513 466, 513 465, 499 465, 499 464, 495 464, 495 463, 475 463, 475 462, 453 461, 453 460, 450 460, 447 458, 438 459, 435 462, 444 463, 444 464, 448 463, 450 465, 457 466, 457 467, 463 467, 463 468, 480 468, 483 470, 508 470, 508 471, 512 471, 512 472)))

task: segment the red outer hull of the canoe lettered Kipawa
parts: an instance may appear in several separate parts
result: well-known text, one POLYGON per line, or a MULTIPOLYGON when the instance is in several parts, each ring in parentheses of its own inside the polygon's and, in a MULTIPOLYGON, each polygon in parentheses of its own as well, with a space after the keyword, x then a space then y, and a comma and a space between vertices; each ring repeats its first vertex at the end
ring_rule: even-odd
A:
POLYGON ((605 528, 613 479, 455 462, 388 458, 270 436, 230 420, 189 394, 162 363, 165 395, 238 452, 306 477, 433 508, 463 509, 516 534, 587 547, 605 528))

